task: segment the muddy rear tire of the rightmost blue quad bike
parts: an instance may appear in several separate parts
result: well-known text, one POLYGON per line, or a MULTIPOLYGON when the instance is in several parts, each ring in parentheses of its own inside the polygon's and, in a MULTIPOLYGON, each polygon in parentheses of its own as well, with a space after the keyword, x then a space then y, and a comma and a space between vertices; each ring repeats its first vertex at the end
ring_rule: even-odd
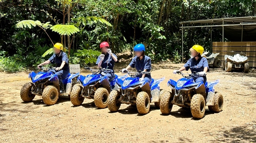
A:
POLYGON ((219 92, 216 92, 214 96, 214 106, 208 106, 208 109, 216 113, 221 112, 223 107, 223 101, 223 96, 219 92))

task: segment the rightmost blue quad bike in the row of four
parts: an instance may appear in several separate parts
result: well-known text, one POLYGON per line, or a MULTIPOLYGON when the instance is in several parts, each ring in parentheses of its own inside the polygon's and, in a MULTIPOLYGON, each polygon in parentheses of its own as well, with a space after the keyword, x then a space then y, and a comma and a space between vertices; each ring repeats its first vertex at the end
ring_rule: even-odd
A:
POLYGON ((214 89, 219 80, 204 85, 203 82, 195 83, 191 76, 206 75, 199 75, 196 72, 187 74, 188 76, 182 72, 177 72, 177 74, 181 74, 184 78, 177 82, 170 79, 167 85, 172 88, 172 92, 163 91, 160 96, 162 114, 170 114, 173 105, 190 108, 193 118, 196 119, 203 118, 206 106, 213 112, 222 111, 223 96, 214 89))

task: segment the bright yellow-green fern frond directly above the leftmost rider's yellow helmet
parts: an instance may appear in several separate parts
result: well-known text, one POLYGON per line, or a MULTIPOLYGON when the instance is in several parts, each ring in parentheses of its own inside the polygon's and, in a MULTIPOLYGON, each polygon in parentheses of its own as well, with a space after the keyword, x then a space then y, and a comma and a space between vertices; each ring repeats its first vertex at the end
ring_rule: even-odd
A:
POLYGON ((71 36, 74 33, 79 32, 79 29, 74 25, 63 25, 57 24, 50 28, 52 31, 59 33, 60 35, 68 35, 71 36))

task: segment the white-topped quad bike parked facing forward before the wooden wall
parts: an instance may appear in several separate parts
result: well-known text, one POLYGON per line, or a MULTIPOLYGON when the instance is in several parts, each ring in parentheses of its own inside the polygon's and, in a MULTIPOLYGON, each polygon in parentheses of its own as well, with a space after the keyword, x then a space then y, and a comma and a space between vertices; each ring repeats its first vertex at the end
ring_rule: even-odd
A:
MULTIPOLYGON (((231 51, 234 52, 234 51, 231 51)), ((235 52, 234 56, 225 55, 223 62, 223 70, 231 72, 233 69, 243 71, 244 73, 249 72, 249 64, 247 63, 248 57, 241 56, 241 52, 235 52)))

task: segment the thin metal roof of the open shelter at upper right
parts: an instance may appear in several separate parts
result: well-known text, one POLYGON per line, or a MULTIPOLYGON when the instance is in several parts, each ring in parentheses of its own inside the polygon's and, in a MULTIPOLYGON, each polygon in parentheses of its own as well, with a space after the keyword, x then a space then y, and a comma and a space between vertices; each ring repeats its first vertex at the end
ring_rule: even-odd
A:
POLYGON ((206 19, 206 20, 194 20, 194 21, 182 21, 180 24, 222 24, 224 23, 241 23, 241 22, 256 22, 256 16, 247 17, 230 17, 221 19, 206 19))

